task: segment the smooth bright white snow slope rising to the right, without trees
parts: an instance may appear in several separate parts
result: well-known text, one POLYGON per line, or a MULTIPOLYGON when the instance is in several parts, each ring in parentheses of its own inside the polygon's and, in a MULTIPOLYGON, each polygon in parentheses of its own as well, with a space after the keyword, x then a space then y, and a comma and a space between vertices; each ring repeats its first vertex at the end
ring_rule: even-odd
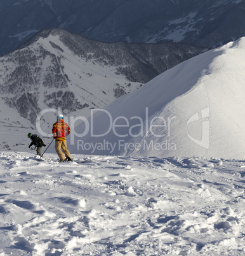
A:
POLYGON ((243 159, 244 73, 245 38, 182 62, 76 127, 71 152, 243 159))

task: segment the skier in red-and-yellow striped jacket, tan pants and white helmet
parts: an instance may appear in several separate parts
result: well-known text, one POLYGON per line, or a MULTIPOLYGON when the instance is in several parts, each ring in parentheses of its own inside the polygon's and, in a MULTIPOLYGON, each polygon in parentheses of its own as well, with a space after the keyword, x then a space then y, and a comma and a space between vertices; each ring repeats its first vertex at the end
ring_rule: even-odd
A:
POLYGON ((57 122, 53 124, 53 138, 55 138, 55 151, 60 157, 60 162, 71 161, 70 152, 67 149, 67 136, 70 134, 70 127, 63 121, 63 115, 57 115, 57 122), (60 150, 62 148, 63 152, 60 150), (64 155, 65 154, 65 155, 64 155))

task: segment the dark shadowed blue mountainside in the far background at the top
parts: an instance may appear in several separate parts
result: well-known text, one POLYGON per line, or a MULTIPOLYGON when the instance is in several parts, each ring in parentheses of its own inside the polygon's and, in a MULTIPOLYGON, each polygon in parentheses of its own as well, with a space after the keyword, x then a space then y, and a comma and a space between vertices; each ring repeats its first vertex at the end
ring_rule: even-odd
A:
POLYGON ((245 0, 0 0, 0 55, 43 29, 105 42, 216 47, 245 34, 245 0))

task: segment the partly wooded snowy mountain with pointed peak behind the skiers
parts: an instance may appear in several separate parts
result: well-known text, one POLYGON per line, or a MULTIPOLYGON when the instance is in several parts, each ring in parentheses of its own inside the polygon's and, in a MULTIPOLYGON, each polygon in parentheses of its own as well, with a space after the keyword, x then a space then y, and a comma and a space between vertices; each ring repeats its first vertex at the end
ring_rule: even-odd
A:
POLYGON ((185 44, 173 48, 173 43, 100 43, 63 29, 43 31, 24 48, 0 58, 0 129, 5 134, 0 148, 20 148, 28 132, 50 133, 58 109, 74 119, 88 117, 93 108, 105 108, 162 71, 206 50, 185 44), (17 140, 12 141, 13 134, 17 140))

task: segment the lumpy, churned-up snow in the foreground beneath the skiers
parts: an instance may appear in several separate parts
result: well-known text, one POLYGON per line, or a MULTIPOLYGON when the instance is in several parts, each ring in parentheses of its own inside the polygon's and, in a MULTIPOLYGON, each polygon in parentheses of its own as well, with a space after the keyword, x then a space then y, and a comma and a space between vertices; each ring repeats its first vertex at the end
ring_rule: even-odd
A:
POLYGON ((244 255, 245 162, 0 153, 0 255, 244 255))

